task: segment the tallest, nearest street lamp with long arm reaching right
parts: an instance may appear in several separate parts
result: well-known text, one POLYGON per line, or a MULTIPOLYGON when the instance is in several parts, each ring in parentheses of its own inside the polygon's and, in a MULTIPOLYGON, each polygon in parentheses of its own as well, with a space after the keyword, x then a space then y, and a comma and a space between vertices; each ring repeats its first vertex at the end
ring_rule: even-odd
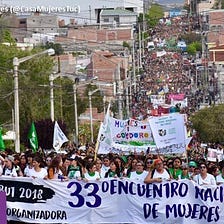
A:
POLYGON ((19 80, 18 80, 18 67, 21 63, 28 61, 34 57, 48 54, 55 54, 54 49, 47 49, 45 51, 26 56, 23 58, 13 58, 13 75, 14 75, 14 113, 15 113, 15 151, 20 152, 20 132, 19 132, 19 80))

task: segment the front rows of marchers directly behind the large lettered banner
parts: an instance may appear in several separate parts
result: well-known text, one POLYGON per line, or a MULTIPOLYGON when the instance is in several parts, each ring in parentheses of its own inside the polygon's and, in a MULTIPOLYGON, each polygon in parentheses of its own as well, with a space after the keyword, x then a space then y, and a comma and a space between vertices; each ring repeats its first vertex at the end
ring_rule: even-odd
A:
POLYGON ((167 180, 190 179, 209 187, 224 183, 224 162, 186 161, 181 157, 165 157, 152 154, 94 155, 92 147, 86 150, 70 150, 67 154, 50 152, 21 154, 1 153, 2 176, 58 179, 68 181, 100 180, 101 178, 129 178, 144 183, 160 183, 167 180))

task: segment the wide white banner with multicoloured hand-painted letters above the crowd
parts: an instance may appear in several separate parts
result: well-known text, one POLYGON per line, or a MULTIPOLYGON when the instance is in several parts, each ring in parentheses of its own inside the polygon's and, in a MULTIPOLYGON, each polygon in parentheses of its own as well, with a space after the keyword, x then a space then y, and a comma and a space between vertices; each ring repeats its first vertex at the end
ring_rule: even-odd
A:
POLYGON ((99 130, 98 141, 98 153, 105 154, 112 151, 124 152, 122 149, 126 146, 147 148, 153 143, 153 137, 148 120, 119 120, 106 116, 99 130))

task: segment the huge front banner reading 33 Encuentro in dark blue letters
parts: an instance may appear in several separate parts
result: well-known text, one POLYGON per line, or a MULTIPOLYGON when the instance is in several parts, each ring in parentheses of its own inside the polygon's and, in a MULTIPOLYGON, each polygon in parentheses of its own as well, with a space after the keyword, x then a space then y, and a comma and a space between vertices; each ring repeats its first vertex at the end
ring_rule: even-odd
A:
POLYGON ((190 180, 144 184, 129 179, 60 182, 0 177, 8 220, 29 223, 224 223, 224 185, 190 180))

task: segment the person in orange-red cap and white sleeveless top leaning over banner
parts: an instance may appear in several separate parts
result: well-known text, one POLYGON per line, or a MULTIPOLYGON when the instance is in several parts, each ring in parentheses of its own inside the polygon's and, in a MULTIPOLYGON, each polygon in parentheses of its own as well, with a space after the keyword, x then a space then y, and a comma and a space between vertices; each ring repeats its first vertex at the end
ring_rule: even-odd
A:
POLYGON ((154 160, 154 169, 152 172, 149 172, 144 183, 161 183, 163 180, 171 180, 172 175, 169 173, 168 169, 165 169, 163 166, 163 161, 161 159, 154 160))

